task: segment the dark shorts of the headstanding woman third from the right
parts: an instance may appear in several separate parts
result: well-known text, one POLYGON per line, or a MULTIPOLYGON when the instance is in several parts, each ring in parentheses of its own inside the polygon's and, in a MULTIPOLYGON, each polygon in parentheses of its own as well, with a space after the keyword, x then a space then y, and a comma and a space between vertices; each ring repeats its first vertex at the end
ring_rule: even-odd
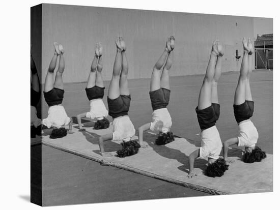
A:
POLYGON ((170 92, 170 89, 162 87, 156 91, 150 92, 153 111, 156 109, 166 108, 166 106, 169 104, 170 92))

